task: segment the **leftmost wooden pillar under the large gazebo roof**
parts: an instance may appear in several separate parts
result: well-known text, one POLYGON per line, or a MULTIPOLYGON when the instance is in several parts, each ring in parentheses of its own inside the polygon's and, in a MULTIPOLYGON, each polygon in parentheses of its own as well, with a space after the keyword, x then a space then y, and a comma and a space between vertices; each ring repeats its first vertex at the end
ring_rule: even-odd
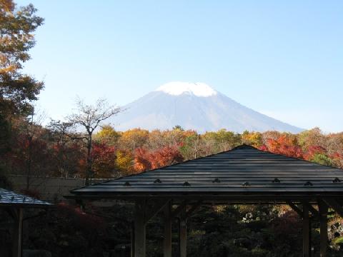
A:
POLYGON ((146 201, 136 201, 134 211, 134 257, 145 257, 146 254, 146 201))

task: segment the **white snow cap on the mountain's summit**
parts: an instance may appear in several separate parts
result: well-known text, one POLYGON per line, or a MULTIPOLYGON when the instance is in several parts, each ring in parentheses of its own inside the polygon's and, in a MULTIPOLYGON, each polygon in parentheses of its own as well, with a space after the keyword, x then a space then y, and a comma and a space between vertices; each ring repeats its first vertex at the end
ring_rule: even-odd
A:
POLYGON ((162 91, 166 94, 171 94, 172 96, 179 96, 184 93, 194 94, 194 96, 201 96, 201 97, 208 97, 208 96, 215 96, 217 95, 217 91, 212 89, 211 86, 196 82, 196 83, 189 83, 189 82, 181 82, 181 81, 173 81, 166 83, 162 86, 159 86, 156 91, 162 91))

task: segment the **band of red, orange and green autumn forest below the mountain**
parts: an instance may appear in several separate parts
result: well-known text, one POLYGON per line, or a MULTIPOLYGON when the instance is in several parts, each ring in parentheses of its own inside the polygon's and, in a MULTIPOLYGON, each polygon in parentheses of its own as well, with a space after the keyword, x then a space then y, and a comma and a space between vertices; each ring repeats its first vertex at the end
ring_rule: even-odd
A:
MULTIPOLYGON (((54 124, 36 124, 34 116, 12 119, 9 148, 1 155, 3 171, 24 176, 84 178, 87 148, 83 134, 65 132, 54 124)), ((234 133, 225 129, 199 134, 180 126, 166 131, 115 131, 107 125, 94 133, 92 139, 91 177, 127 176, 229 151, 243 143, 262 151, 343 168, 343 133, 325 134, 318 128, 298 134, 234 133)))

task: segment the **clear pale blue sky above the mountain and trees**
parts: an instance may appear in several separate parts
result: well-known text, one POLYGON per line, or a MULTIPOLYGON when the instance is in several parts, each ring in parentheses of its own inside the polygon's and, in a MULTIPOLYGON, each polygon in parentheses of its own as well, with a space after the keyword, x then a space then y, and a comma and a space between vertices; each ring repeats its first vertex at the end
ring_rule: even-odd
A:
POLYGON ((46 1, 26 72, 60 119, 76 95, 124 105, 204 82, 305 129, 343 131, 343 1, 46 1))

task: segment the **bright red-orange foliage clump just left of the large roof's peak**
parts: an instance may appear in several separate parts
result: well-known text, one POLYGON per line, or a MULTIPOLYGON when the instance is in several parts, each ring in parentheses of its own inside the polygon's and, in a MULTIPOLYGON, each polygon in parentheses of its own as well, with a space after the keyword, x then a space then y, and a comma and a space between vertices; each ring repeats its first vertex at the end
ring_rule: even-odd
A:
POLYGON ((136 171, 161 168, 184 160, 177 146, 165 146, 152 152, 137 148, 135 153, 134 169, 136 171))

